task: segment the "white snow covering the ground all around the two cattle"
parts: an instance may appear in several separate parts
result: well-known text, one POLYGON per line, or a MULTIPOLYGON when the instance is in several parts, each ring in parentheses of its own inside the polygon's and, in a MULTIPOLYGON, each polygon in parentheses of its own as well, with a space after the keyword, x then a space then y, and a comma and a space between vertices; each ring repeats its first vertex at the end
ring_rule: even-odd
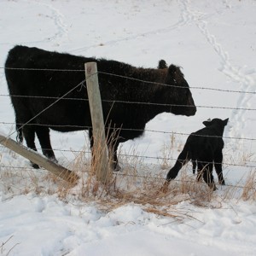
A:
MULTIPOLYGON (((205 119, 230 118, 224 131, 227 186, 218 186, 210 201, 198 201, 190 192, 158 197, 157 179, 157 184, 150 181, 153 192, 145 190, 148 203, 136 201, 139 195, 120 203, 103 190, 86 198, 81 183, 61 195, 60 181, 32 170, 28 160, 1 146, 0 255, 256 255, 255 196, 244 201, 242 189, 233 190, 250 180, 254 190, 249 193, 255 193, 255 1, 2 0, 0 9, 1 135, 16 136, 3 70, 15 44, 137 67, 156 67, 160 59, 183 67, 197 113, 162 113, 147 124, 143 137, 120 145, 124 174, 135 170, 139 176, 165 177, 174 160, 162 158, 175 159, 186 134, 201 129, 205 119), (166 205, 152 205, 154 200, 166 205)), ((84 150, 88 168, 86 132, 51 131, 51 141, 61 164, 80 168, 74 162, 84 150)), ((194 180, 189 168, 188 178, 194 180)), ((177 187, 180 179, 182 174, 177 187)), ((116 185, 127 193, 146 188, 142 177, 131 180, 117 177, 116 185)))

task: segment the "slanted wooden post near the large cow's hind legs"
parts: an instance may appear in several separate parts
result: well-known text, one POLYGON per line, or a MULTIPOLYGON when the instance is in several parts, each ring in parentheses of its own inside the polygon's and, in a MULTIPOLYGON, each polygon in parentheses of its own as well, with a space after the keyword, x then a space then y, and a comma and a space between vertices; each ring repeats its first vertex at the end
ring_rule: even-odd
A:
POLYGON ((49 160, 48 158, 38 154, 36 151, 22 146, 20 143, 16 143, 13 139, 4 137, 0 135, 0 144, 10 150, 15 151, 15 153, 20 154, 33 163, 38 164, 38 166, 44 167, 49 172, 53 173, 57 177, 61 177, 67 182, 76 183, 79 177, 68 170, 67 168, 56 164, 55 162, 49 160))

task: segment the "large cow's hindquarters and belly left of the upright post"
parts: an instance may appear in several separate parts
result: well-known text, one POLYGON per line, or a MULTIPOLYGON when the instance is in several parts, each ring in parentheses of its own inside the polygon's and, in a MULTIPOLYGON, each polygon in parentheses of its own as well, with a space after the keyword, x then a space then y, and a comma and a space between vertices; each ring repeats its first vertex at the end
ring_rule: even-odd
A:
POLYGON ((90 126, 90 109, 84 101, 87 91, 80 83, 84 80, 84 62, 92 60, 26 46, 11 49, 5 73, 16 119, 26 123, 42 112, 34 122, 53 125, 57 131, 90 126), (62 96, 67 99, 60 100, 62 96))

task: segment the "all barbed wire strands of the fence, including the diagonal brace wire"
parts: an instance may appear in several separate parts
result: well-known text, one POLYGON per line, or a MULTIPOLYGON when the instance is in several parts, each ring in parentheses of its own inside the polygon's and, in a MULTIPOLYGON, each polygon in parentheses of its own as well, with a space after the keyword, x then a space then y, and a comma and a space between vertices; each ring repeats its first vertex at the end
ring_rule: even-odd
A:
MULTIPOLYGON (((4 69, 4 67, 0 67, 0 69, 4 69)), ((79 70, 79 69, 44 69, 44 68, 11 68, 11 67, 5 67, 5 69, 15 69, 15 70, 26 70, 26 71, 36 71, 36 72, 46 72, 46 71, 50 71, 50 72, 74 72, 74 73, 78 73, 78 72, 83 72, 84 73, 84 69, 83 70, 79 70)), ((114 74, 114 73, 104 73, 104 72, 98 72, 98 74, 103 74, 103 75, 108 75, 108 76, 114 76, 114 77, 119 77, 121 79, 130 79, 133 81, 138 81, 144 84, 157 84, 157 85, 161 85, 161 86, 168 86, 168 87, 177 87, 179 88, 179 86, 175 85, 175 84, 161 84, 161 83, 155 83, 155 82, 151 82, 151 81, 147 81, 147 80, 142 80, 142 79, 134 79, 134 78, 130 78, 130 77, 126 77, 126 76, 122 76, 119 74, 114 74)), ((82 102, 88 102, 88 99, 84 99, 84 98, 73 98, 73 97, 68 97, 68 95, 73 91, 73 90, 79 90, 79 88, 81 87, 85 87, 85 79, 82 80, 79 84, 76 84, 75 86, 73 86, 73 88, 71 90, 68 90, 67 93, 65 93, 62 96, 26 96, 26 95, 12 95, 12 97, 17 97, 17 98, 34 98, 34 99, 48 99, 48 100, 53 100, 54 102, 52 102, 51 104, 49 104, 49 106, 47 108, 44 108, 41 112, 39 112, 37 115, 35 115, 32 119, 28 120, 26 122, 26 124, 18 124, 18 125, 44 125, 44 124, 37 124, 37 123, 32 123, 33 119, 36 119, 36 117, 38 117, 40 114, 44 113, 44 111, 46 111, 47 109, 51 108, 53 105, 55 105, 57 102, 60 101, 82 101, 82 102)), ((255 91, 242 91, 242 90, 222 90, 222 89, 216 89, 216 88, 207 88, 207 87, 202 87, 202 86, 197 86, 197 87, 189 87, 190 89, 193 90, 212 90, 212 91, 218 91, 218 92, 224 92, 224 93, 237 93, 237 94, 248 94, 248 95, 255 95, 256 92, 255 91)), ((0 95, 2 97, 8 96, 9 95, 0 95)), ((177 105, 177 104, 161 104, 161 103, 157 103, 157 102, 131 102, 131 101, 122 101, 122 100, 108 100, 108 99, 102 99, 102 102, 108 102, 108 103, 114 103, 114 104, 137 104, 137 105, 148 105, 148 106, 165 106, 165 107, 194 107, 194 106, 181 106, 181 105, 177 105)), ((218 106, 196 106, 196 108, 216 108, 216 109, 230 109, 230 110, 246 110, 246 111, 255 111, 256 108, 234 108, 234 107, 218 107, 218 106)), ((11 123, 11 122, 0 122, 1 125, 16 125, 16 123, 11 123)), ((47 127, 51 127, 51 128, 57 128, 57 127, 73 127, 73 125, 44 125, 47 127)), ((83 125, 75 125, 75 127, 77 129, 80 130, 84 130, 84 129, 90 129, 92 128, 91 126, 83 126, 83 125)), ((116 127, 110 127, 110 128, 114 128, 116 129, 116 127)), ((189 136, 188 133, 183 133, 183 132, 173 132, 173 131, 154 131, 154 130, 140 130, 140 129, 127 129, 127 128, 122 128, 122 130, 127 130, 127 131, 148 131, 148 132, 155 132, 155 133, 164 133, 164 134, 172 134, 172 135, 181 135, 181 136, 189 136)), ((11 134, 9 134, 9 137, 11 135, 13 135, 15 133, 12 132, 11 134)), ((195 135, 195 136, 199 136, 199 135, 195 135)), ((211 136, 208 136, 211 137, 211 136)), ((224 137, 224 139, 235 139, 235 140, 245 140, 245 141, 251 141, 254 142, 256 141, 256 138, 252 137, 224 137)), ((1 146, 2 147, 2 146, 1 146)), ((42 149, 42 148, 38 148, 38 149, 42 149)), ((47 150, 47 148, 44 148, 44 150, 47 150)), ((61 152, 77 152, 79 153, 79 151, 75 151, 75 150, 67 150, 67 149, 54 149, 55 151, 61 151, 61 152)), ((90 154, 90 151, 84 151, 84 153, 86 154, 90 154)), ((147 156, 147 155, 137 155, 137 154, 119 154, 119 156, 122 157, 133 157, 133 158, 143 158, 143 159, 153 159, 153 160, 176 160, 174 158, 170 158, 170 157, 154 157, 154 156, 147 156)), ((256 161, 250 161, 247 160, 247 163, 252 163, 253 165, 248 165, 248 164, 234 164, 234 163, 222 163, 225 166, 241 166, 241 167, 245 167, 245 168, 256 168, 256 165, 254 165, 254 163, 256 163, 256 161)), ((23 170, 25 167, 19 167, 19 166, 4 166, 1 165, 1 168, 12 168, 12 169, 16 169, 16 170, 23 170)), ((27 167, 26 167, 27 170, 27 167)), ((125 173, 118 173, 116 175, 126 175, 129 176, 129 174, 125 174, 125 173)), ((147 177, 147 176, 141 176, 141 175, 137 175, 134 174, 133 177, 147 177)), ((154 178, 154 177, 148 177, 148 178, 154 178)), ((155 177, 156 178, 156 177, 155 177)), ((157 177, 159 178, 159 177, 157 177)), ((164 179, 164 177, 163 177, 164 179)), ((178 180, 176 180, 178 182, 178 180)), ((244 188, 244 187, 242 187, 244 188)))

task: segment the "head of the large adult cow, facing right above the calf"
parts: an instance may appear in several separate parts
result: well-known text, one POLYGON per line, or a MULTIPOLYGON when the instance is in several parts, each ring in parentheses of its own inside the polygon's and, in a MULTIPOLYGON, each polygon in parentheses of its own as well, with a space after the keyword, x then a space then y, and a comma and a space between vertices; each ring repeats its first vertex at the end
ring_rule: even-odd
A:
MULTIPOLYGON (((163 65, 160 67, 163 67, 163 65)), ((172 104, 171 113, 187 116, 195 115, 195 102, 189 90, 189 84, 184 79, 179 67, 174 65, 168 67, 166 84, 169 84, 170 88, 172 88, 172 90, 169 90, 169 93, 171 92, 172 95, 168 96, 172 104)))

